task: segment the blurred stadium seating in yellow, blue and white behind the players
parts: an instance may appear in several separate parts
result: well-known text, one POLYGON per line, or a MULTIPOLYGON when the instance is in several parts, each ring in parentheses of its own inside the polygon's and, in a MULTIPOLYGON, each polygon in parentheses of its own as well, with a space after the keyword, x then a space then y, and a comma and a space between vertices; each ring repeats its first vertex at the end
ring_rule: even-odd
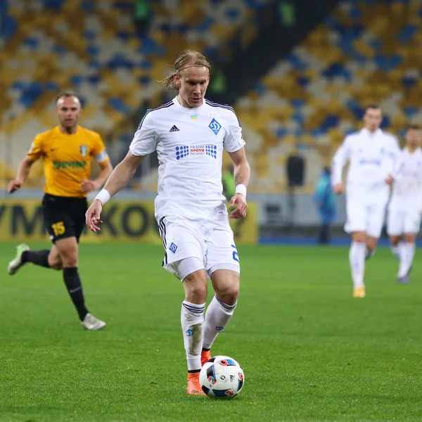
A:
MULTIPOLYGON (((136 27, 132 0, 0 2, 0 174, 7 179, 37 132, 53 124, 58 91, 86 103, 83 123, 127 149, 136 110, 161 101, 156 83, 177 51, 211 58, 271 0, 151 1, 148 31, 136 27), (129 116, 129 117, 128 117, 129 116)), ((253 169, 251 189, 283 191, 286 158, 306 158, 305 189, 362 108, 380 103, 384 126, 401 134, 421 121, 422 6, 418 0, 342 1, 331 16, 235 104, 253 169)), ((39 171, 32 183, 39 183, 39 171)), ((154 188, 155 174, 145 184, 154 188)))

